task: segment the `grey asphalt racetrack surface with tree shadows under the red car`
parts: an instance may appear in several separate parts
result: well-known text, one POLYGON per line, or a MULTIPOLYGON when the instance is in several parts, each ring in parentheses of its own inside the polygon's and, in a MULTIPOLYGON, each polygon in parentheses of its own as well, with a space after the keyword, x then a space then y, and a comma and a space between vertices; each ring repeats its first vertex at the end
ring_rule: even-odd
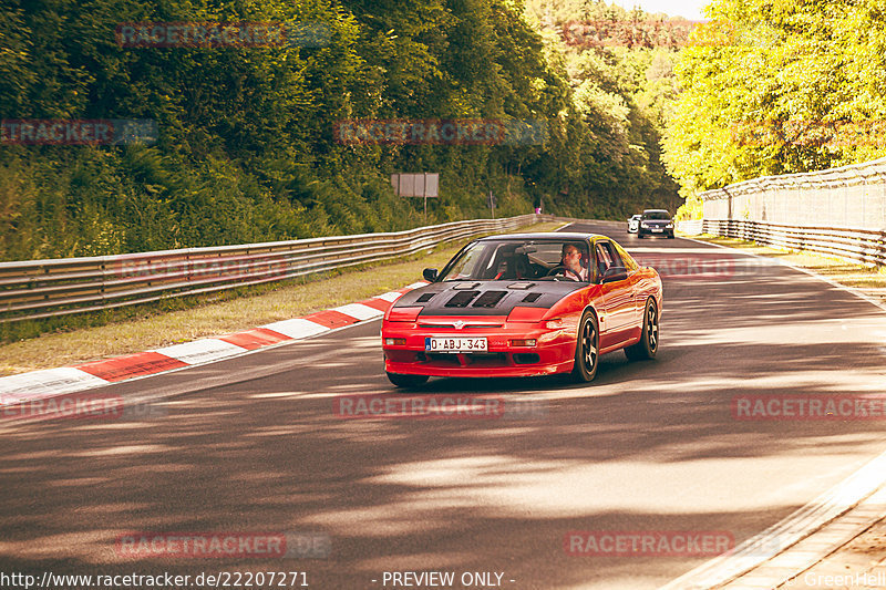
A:
POLYGON ((101 390, 154 400, 150 415, 6 420, 0 573, 305 571, 297 581, 310 588, 372 589, 408 588, 383 584, 385 571, 437 570, 498 572, 514 589, 656 588, 707 558, 575 557, 564 538, 720 531, 739 542, 886 449, 883 420, 742 421, 732 407, 741 395, 883 393, 877 308, 734 251, 638 240, 625 224, 569 229, 611 235, 660 268, 657 360, 604 356, 587 385, 425 390, 532 402, 530 415, 343 420, 337 397, 394 393, 373 321, 101 390), (226 531, 312 534, 329 555, 133 558, 116 542, 226 531))

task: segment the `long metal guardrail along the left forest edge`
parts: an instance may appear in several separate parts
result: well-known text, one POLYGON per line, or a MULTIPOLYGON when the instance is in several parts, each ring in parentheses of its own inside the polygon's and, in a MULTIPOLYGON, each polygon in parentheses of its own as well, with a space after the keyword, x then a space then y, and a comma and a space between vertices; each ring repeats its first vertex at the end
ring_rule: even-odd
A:
POLYGON ((0 262, 0 322, 100 311, 303 277, 549 219, 554 217, 532 214, 393 234, 0 262))

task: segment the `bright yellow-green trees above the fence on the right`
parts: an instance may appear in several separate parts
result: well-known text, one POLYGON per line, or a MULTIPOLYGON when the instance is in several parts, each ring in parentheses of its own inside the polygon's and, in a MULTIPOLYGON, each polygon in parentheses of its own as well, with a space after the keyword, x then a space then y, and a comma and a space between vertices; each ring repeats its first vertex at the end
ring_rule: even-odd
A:
POLYGON ((879 0, 715 0, 674 71, 666 159, 684 196, 886 155, 879 0))

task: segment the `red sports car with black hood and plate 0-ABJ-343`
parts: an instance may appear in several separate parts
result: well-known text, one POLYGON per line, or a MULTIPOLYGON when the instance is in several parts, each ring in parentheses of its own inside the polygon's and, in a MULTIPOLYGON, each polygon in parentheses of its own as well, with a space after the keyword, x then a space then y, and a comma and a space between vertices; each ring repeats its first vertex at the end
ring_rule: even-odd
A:
POLYGON ((661 279, 606 236, 482 238, 424 278, 381 327, 385 371, 401 387, 430 376, 590 381, 600 354, 658 349, 661 279))

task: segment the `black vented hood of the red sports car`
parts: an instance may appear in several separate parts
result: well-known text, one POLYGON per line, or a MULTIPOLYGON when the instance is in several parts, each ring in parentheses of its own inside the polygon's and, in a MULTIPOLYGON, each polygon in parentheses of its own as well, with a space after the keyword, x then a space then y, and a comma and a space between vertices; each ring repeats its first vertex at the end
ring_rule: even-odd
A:
POLYGON ((421 315, 507 315, 517 306, 548 309, 587 286, 570 280, 432 282, 405 293, 394 307, 424 308, 421 315))

